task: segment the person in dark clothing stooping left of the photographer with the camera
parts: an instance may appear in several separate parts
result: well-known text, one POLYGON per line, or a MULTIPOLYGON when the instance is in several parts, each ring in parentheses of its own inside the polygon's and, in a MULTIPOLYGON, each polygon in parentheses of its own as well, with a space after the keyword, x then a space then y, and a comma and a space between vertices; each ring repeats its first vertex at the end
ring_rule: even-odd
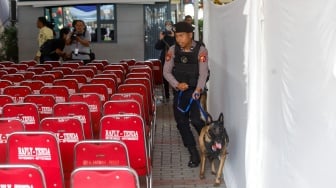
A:
POLYGON ((64 52, 65 42, 70 33, 69 28, 62 28, 59 33, 59 38, 50 39, 42 45, 40 62, 44 61, 58 61, 60 58, 64 58, 66 53, 64 52))

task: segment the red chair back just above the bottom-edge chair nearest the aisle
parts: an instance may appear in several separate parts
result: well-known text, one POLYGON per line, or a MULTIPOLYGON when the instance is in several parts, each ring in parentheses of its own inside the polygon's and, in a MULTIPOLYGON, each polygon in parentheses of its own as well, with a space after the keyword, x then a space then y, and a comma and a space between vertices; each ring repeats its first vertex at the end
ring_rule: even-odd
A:
POLYGON ((83 140, 75 145, 75 168, 129 166, 127 146, 120 140, 83 140))

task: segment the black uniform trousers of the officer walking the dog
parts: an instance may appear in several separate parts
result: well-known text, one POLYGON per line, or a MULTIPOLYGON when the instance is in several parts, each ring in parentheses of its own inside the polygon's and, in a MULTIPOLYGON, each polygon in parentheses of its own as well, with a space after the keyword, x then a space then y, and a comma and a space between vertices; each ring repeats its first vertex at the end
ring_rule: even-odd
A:
POLYGON ((177 129, 182 137, 183 145, 187 148, 196 146, 194 135, 191 131, 191 125, 196 129, 198 135, 205 125, 205 122, 201 119, 200 108, 196 101, 192 101, 190 104, 190 99, 194 89, 188 89, 183 91, 182 95, 179 97, 179 91, 174 91, 174 118, 177 123, 177 129), (189 111, 183 112, 187 109, 190 104, 189 111), (179 108, 179 109, 178 109, 179 108))

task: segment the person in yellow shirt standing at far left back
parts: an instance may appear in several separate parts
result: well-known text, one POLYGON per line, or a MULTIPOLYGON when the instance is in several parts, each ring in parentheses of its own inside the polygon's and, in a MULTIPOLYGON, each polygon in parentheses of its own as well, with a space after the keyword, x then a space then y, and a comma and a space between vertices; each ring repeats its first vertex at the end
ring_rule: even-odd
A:
POLYGON ((43 16, 37 18, 36 26, 39 29, 39 33, 37 37, 39 49, 36 52, 34 60, 37 62, 40 62, 40 57, 41 57, 40 48, 47 40, 54 38, 54 31, 48 27, 48 21, 43 16))

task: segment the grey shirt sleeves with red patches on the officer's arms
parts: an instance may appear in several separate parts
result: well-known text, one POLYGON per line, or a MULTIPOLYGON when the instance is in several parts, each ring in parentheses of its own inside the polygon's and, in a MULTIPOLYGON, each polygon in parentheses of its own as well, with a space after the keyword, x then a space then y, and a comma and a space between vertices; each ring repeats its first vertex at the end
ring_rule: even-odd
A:
MULTIPOLYGON (((192 41, 192 49, 195 48, 196 42, 192 41)), ((183 50, 183 49, 182 49, 183 50)), ((169 84, 176 88, 179 82, 175 79, 174 75, 172 74, 172 70, 174 68, 174 58, 175 58, 175 45, 171 46, 169 48, 169 51, 166 55, 165 64, 163 67, 163 75, 165 79, 169 82, 169 84)), ((202 45, 200 47, 200 50, 198 52, 198 65, 199 65, 199 77, 197 81, 197 88, 204 88, 206 84, 206 80, 208 77, 208 51, 207 49, 202 45)))

